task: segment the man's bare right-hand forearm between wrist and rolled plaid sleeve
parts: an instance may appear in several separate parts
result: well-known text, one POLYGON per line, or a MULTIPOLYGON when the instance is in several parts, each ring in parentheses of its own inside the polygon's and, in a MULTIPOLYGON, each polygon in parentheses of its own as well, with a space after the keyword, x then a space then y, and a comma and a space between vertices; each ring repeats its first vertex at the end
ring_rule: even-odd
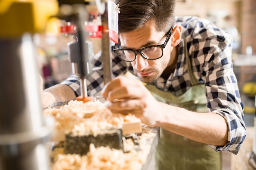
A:
POLYGON ((160 104, 163 105, 160 107, 163 114, 157 118, 157 126, 205 144, 227 144, 227 123, 222 116, 160 104))

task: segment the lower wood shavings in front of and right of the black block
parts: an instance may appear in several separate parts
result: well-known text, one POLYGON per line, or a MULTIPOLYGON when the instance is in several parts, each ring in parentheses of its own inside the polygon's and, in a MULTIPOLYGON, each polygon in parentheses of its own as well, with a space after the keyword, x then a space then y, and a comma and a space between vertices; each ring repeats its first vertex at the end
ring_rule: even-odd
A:
POLYGON ((144 128, 148 133, 139 136, 141 150, 132 149, 132 140, 126 139, 124 146, 130 147, 130 152, 124 153, 122 150, 110 149, 109 147, 95 148, 90 145, 87 155, 67 154, 64 155, 63 149, 54 150, 54 162, 51 170, 141 170, 150 152, 152 140, 155 139, 155 130, 144 128), (70 161, 71 160, 71 161, 70 161), (68 168, 71 167, 71 168, 68 168))

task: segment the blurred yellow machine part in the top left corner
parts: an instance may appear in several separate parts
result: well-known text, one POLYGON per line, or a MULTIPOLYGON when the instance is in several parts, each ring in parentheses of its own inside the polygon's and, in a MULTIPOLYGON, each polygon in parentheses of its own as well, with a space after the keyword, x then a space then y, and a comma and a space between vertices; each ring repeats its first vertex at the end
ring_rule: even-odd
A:
POLYGON ((57 13, 57 0, 0 0, 0 39, 43 32, 57 13))

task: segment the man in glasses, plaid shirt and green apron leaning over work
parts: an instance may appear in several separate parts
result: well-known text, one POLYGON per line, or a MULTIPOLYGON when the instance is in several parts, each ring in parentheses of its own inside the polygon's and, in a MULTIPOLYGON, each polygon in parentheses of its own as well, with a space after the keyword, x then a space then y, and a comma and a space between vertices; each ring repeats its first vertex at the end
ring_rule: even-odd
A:
MULTIPOLYGON (((147 85, 119 76, 104 86, 99 53, 92 61, 88 95, 102 90, 113 112, 133 113, 161 128, 157 169, 220 170, 216 151, 237 154, 246 134, 230 36, 207 20, 175 18, 175 0, 116 3, 121 13, 113 74, 129 71, 147 85)), ((49 104, 75 99, 78 78, 69 77, 44 95, 52 98, 49 104)))

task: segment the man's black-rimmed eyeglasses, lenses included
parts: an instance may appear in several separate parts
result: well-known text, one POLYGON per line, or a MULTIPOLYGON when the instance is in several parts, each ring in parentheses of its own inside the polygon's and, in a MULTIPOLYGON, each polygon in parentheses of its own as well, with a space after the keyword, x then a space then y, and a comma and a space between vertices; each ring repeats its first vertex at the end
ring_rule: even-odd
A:
POLYGON ((113 51, 117 53, 118 57, 125 62, 133 62, 134 60, 136 60, 137 54, 140 54, 147 60, 157 60, 163 56, 163 49, 165 48, 167 42, 171 38, 172 28, 173 27, 171 27, 171 29, 168 31, 167 38, 164 44, 147 46, 139 50, 116 49, 116 47, 118 48, 118 44, 115 44, 113 51))

